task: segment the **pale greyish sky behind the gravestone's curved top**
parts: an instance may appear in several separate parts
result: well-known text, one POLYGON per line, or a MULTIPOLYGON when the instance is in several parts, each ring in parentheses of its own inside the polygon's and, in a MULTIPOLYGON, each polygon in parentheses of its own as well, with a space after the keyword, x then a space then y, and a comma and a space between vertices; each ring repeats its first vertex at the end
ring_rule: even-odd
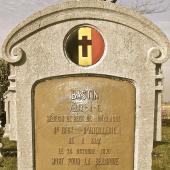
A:
MULTIPOLYGON (((32 15, 38 10, 47 6, 62 3, 64 0, 0 0, 0 47, 8 33, 26 17, 32 15)), ((153 0, 143 0, 149 3, 153 0)), ((154 2, 160 0, 154 0, 154 2)), ((136 2, 141 0, 119 0, 118 3, 126 7, 135 6, 136 2)), ((153 6, 153 8, 167 7, 165 12, 156 14, 147 14, 145 17, 155 23, 167 35, 170 40, 170 1, 164 0, 164 3, 153 6), (169 8, 168 8, 169 7, 169 8)), ((164 72, 164 102, 170 101, 170 60, 163 65, 164 72)))

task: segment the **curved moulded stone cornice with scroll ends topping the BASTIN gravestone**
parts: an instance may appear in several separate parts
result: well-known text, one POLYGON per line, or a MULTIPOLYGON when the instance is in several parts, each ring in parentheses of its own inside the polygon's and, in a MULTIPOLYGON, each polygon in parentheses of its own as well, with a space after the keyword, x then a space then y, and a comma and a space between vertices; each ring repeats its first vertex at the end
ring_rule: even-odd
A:
POLYGON ((5 40, 2 47, 3 58, 10 63, 19 62, 25 55, 24 50, 18 46, 19 42, 22 42, 27 37, 47 27, 69 20, 93 20, 94 18, 95 20, 125 25, 155 41, 158 46, 162 47, 159 49, 162 55, 159 59, 157 59, 157 57, 153 59, 153 51, 155 50, 149 53, 148 57, 150 57, 154 63, 163 63, 170 56, 168 39, 157 26, 145 17, 114 3, 110 4, 106 1, 99 0, 81 0, 68 1, 51 6, 27 18, 11 32, 5 40), (86 11, 86 17, 84 17, 83 12, 77 15, 78 10, 86 11), (103 13, 102 16, 98 15, 101 12, 103 13), (70 15, 72 18, 70 18, 70 15))

